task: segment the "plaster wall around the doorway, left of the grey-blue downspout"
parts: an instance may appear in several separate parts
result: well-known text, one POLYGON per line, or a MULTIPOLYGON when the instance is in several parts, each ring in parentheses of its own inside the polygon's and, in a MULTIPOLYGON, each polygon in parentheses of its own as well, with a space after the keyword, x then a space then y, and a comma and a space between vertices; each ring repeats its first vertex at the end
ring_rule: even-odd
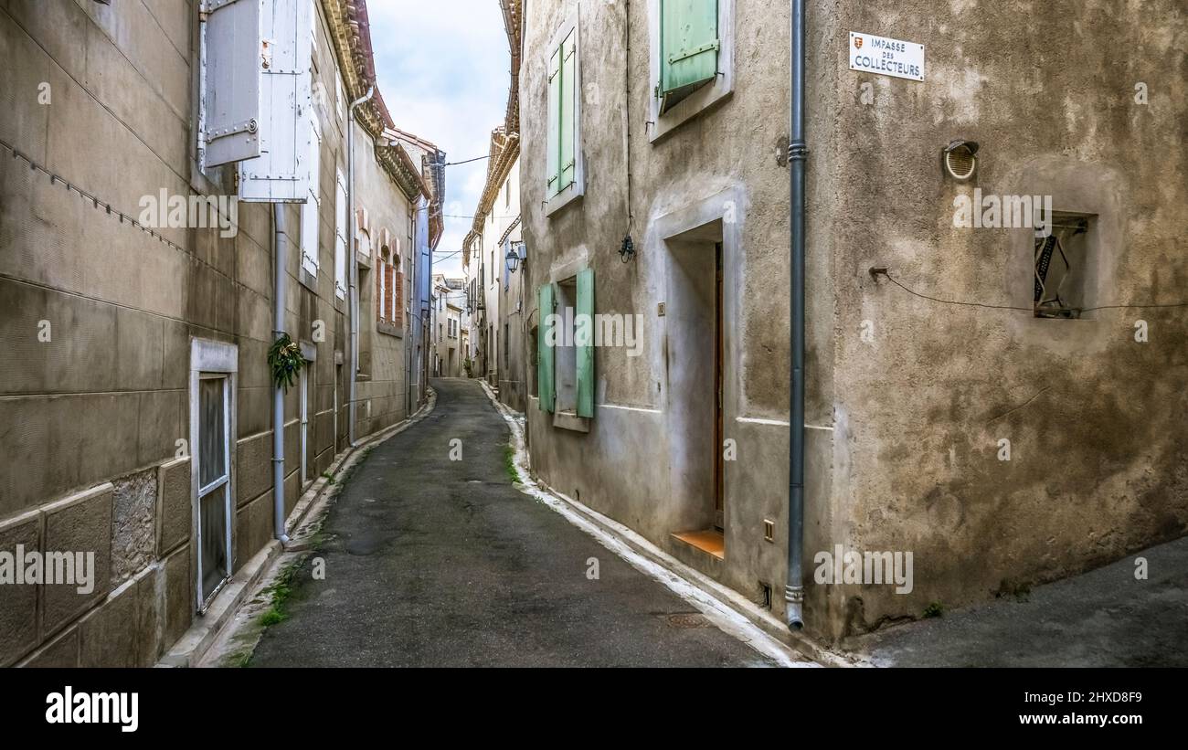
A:
MULTIPOLYGON (((525 212, 529 330, 539 322, 536 288, 550 279, 551 269, 576 260, 595 271, 596 312, 642 316, 644 348, 642 356, 628 356, 625 348, 596 350, 596 406, 588 434, 552 427, 551 415, 539 411, 536 399, 529 400, 527 424, 532 465, 546 483, 756 599, 762 596, 760 581, 770 585, 773 610, 782 612, 788 492, 788 171, 777 164, 776 150, 779 135, 788 132, 788 23, 786 5, 769 5, 758 12, 753 4, 742 4, 734 12, 739 42, 733 93, 652 142, 649 4, 630 5, 630 52, 624 38, 624 4, 581 4, 584 196, 550 217, 537 210, 525 212), (630 263, 620 262, 618 254, 628 231, 625 123, 631 133, 634 218, 630 231, 637 250, 630 263), (697 361, 681 344, 709 337, 712 329, 707 330, 697 316, 682 312, 674 286, 681 273, 680 246, 666 240, 670 230, 664 229, 694 228, 699 222, 713 224, 710 234, 727 237, 725 437, 737 441, 738 459, 726 464, 726 553, 721 564, 703 553, 690 553, 671 539, 674 532, 704 528, 707 517, 712 520, 712 434, 690 430, 687 419, 689 406, 712 400, 712 386, 701 399, 690 399, 684 392, 701 381, 689 376, 699 370, 697 361), (664 316, 659 303, 666 305, 664 316), (773 542, 763 540, 764 519, 775 521, 773 542)), ((520 81, 525 206, 538 206, 544 198, 546 45, 575 8, 576 2, 539 2, 526 19, 520 81)), ((811 34, 814 49, 832 27, 827 19, 817 23, 811 34)), ((821 71, 811 81, 814 88, 822 87, 814 94, 816 98, 835 95, 819 83, 832 78, 830 71, 821 71)), ((832 119, 814 115, 814 127, 829 132, 832 119)), ((833 169, 826 164, 813 177, 815 195, 826 191, 822 174, 833 169)), ((811 286, 828 290, 826 266, 832 243, 826 229, 815 227, 814 233, 811 286)), ((700 252, 713 252, 712 241, 699 241, 700 252)), ((828 293, 811 300, 809 364, 819 376, 810 380, 809 420, 817 425, 832 424, 832 314, 828 293)), ((814 466, 810 492, 828 497, 832 433, 811 433, 809 450, 814 466)), ((829 517, 827 506, 810 510, 807 535, 816 540, 813 544, 824 544, 829 517)))

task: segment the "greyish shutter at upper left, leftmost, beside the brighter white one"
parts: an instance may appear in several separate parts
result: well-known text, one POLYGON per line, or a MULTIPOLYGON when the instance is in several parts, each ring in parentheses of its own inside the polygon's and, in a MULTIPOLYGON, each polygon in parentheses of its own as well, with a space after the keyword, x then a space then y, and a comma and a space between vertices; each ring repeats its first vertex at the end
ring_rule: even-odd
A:
POLYGON ((260 155, 260 0, 206 0, 202 135, 206 166, 260 155))

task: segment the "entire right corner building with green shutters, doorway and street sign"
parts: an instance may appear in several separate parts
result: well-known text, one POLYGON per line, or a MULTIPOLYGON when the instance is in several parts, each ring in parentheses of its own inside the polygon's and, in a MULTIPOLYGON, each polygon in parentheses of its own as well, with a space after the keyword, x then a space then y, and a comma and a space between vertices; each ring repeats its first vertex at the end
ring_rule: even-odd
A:
POLYGON ((1175 5, 1099 23, 1064 1, 808 2, 805 316, 790 323, 789 4, 533 4, 519 65, 533 471, 784 615, 803 324, 791 428, 810 634, 1183 535, 1175 5), (874 34, 927 63, 881 75, 874 34), (1051 39, 1075 39, 1072 55, 1051 39), (1047 218, 991 211, 1023 196, 1050 197, 1047 218), (607 335, 567 336, 567 311, 607 335), (829 560, 852 553, 859 570, 835 579, 829 560), (868 580, 861 561, 884 553, 912 555, 912 584, 868 580))

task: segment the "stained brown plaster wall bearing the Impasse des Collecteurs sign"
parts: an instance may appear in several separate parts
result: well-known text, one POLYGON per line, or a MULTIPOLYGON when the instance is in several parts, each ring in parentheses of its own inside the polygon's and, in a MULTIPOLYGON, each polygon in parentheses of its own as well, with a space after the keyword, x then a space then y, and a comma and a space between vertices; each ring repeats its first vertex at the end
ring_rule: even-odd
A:
MULTIPOLYGON (((1026 229, 955 229, 954 197, 1053 195, 1098 215, 1099 304, 1188 301, 1188 24, 1155 2, 842 4, 843 27, 922 43, 923 83, 845 70, 834 220, 838 541, 915 553, 915 591, 847 587, 845 631, 1117 559, 1188 528, 1184 309, 1035 319, 1026 229), (1145 83, 1149 103, 1136 102, 1145 83), (873 101, 864 104, 861 85, 873 101), (941 148, 979 141, 975 179, 941 148), (1150 341, 1135 341, 1146 320, 1150 341), (873 324, 873 342, 859 337, 873 324), (999 439, 1011 459, 999 460, 999 439)), ((815 216, 811 221, 815 221, 815 216)))

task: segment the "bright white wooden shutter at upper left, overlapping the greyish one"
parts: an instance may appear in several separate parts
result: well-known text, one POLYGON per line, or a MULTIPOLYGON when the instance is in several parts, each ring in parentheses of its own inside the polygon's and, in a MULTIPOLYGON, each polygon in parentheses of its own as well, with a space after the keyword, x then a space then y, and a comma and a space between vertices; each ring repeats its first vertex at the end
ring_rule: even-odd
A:
POLYGON ((259 155, 240 163, 239 197, 268 203, 301 202, 305 199, 309 179, 301 155, 312 138, 309 28, 314 24, 314 0, 254 1, 263 6, 260 55, 255 61, 259 155))

